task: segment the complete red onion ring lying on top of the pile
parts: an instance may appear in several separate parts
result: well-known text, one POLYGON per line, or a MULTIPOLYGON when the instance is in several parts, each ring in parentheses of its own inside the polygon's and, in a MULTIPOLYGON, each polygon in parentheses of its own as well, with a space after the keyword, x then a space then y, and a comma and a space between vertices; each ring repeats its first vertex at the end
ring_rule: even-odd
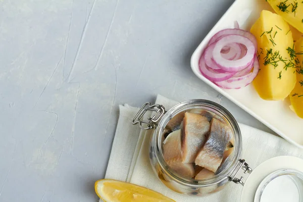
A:
POLYGON ((214 62, 219 68, 228 72, 240 71, 247 68, 252 62, 254 62, 255 56, 256 48, 254 43, 252 43, 247 37, 236 34, 223 36, 215 43, 213 50, 214 62), (229 43, 241 43, 245 45, 247 48, 245 56, 236 61, 230 61, 223 58, 221 55, 221 49, 229 43))

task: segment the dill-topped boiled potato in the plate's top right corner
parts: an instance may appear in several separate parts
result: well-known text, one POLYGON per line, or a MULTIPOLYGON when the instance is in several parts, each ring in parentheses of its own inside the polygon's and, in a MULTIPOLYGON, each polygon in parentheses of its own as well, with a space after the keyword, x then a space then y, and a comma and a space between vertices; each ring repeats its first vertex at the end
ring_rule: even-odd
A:
POLYGON ((267 0, 274 11, 286 22, 303 33, 303 2, 297 0, 267 0))

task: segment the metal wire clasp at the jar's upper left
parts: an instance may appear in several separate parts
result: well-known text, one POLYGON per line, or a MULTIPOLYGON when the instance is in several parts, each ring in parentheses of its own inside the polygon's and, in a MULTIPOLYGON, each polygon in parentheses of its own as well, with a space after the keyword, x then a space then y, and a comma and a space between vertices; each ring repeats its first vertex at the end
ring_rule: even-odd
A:
POLYGON ((165 112, 166 111, 162 105, 150 105, 150 103, 145 103, 133 118, 132 124, 139 124, 140 128, 143 130, 156 128, 158 121, 162 118, 165 112), (147 120, 143 120, 144 114, 148 111, 156 112, 156 114, 153 117, 148 117, 147 120))

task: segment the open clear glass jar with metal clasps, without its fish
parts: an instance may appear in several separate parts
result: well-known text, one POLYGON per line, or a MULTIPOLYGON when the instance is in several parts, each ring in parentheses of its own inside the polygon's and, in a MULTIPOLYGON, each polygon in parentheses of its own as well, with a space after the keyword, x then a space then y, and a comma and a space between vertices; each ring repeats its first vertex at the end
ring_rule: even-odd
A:
POLYGON ((237 178, 240 170, 251 173, 251 169, 241 158, 242 138, 239 126, 234 117, 222 106, 204 99, 191 99, 179 103, 169 111, 161 105, 146 103, 134 117, 133 124, 139 124, 142 129, 155 129, 149 143, 149 158, 151 166, 158 178, 171 190, 192 196, 205 196, 224 188, 228 182, 244 184, 242 177, 237 178), (172 170, 164 160, 162 142, 165 135, 165 127, 168 122, 180 112, 189 110, 205 110, 211 112, 217 119, 224 121, 232 130, 234 136, 234 150, 229 161, 221 168, 221 171, 213 178, 207 180, 188 179, 180 176, 172 170), (144 119, 147 111, 153 111, 153 115, 144 119))

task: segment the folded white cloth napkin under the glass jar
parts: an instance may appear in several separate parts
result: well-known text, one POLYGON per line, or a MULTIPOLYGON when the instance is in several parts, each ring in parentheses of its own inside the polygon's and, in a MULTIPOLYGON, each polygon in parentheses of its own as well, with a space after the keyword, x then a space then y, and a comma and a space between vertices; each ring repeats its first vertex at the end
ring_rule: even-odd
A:
MULTIPOLYGON (((177 102, 158 95, 157 104, 169 110, 177 102)), ((149 163, 149 139, 152 130, 140 130, 131 121, 138 108, 120 106, 120 117, 106 172, 107 179, 134 183, 158 191, 176 201, 240 201, 242 186, 230 182, 222 191, 206 197, 192 197, 176 193, 157 178, 149 163)), ((254 169, 262 162, 277 156, 296 156, 303 159, 303 150, 286 140, 264 131, 239 124, 243 137, 242 159, 254 169)), ((102 201, 102 200, 100 200, 102 201)))

